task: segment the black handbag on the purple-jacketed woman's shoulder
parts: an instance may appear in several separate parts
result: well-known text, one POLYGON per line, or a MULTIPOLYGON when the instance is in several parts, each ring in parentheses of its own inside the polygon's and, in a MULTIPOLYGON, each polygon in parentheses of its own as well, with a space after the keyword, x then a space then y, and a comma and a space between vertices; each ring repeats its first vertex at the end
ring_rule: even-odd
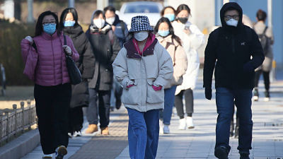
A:
MULTIPOLYGON (((67 45, 66 36, 64 35, 64 45, 67 45)), ((76 85, 81 83, 81 72, 79 68, 76 66, 75 62, 71 57, 65 52, 66 54, 66 66, 69 73, 69 78, 72 85, 76 85)))

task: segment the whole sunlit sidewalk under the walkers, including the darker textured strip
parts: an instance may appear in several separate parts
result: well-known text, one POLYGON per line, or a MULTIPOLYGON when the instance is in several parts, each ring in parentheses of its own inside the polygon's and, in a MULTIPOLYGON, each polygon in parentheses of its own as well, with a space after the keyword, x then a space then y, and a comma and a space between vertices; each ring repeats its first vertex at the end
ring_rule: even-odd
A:
MULTIPOLYGON (((263 85, 260 81, 260 97, 263 96, 263 85)), ((278 159, 283 158, 283 81, 272 83, 271 101, 253 102, 253 150, 250 158, 278 159)), ((161 135, 157 159, 198 159, 214 157, 216 106, 215 93, 213 100, 205 100, 202 81, 198 81, 194 90, 195 129, 178 130, 178 117, 171 121, 171 134, 161 135)), ((121 109, 111 114, 111 136, 82 136, 71 139, 68 155, 71 159, 128 159, 127 147, 127 114, 121 109), (71 156, 71 157, 70 157, 71 156)), ((87 124, 84 125, 86 128, 87 124)), ((238 139, 230 138, 231 153, 229 158, 239 158, 238 139)), ((23 159, 40 158, 40 146, 23 159), (34 157, 32 157, 34 156, 34 157)))

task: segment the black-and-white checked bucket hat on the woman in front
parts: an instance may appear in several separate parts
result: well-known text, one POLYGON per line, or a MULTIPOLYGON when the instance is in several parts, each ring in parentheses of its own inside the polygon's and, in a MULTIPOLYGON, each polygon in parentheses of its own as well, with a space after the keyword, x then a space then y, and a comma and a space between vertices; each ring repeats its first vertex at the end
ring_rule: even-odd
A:
POLYGON ((129 33, 138 31, 154 31, 149 24, 149 18, 147 16, 135 16, 132 18, 131 29, 129 33))

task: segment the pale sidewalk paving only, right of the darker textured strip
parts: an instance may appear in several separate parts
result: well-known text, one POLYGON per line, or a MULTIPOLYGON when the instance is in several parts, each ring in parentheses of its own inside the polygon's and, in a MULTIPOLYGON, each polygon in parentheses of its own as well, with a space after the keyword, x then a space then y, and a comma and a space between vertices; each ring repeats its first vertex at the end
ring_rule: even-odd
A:
MULTIPOLYGON (((262 83, 262 82, 261 82, 262 83)), ((161 135, 158 144, 157 159, 197 159, 214 157, 216 106, 213 100, 204 99, 204 90, 199 81, 195 95, 195 129, 178 130, 178 117, 173 117, 171 134, 161 135)), ((260 88, 263 88, 260 85, 260 88)), ((260 89, 260 95, 263 96, 260 89)), ((253 102, 253 150, 250 158, 283 158, 283 81, 272 83, 270 102, 253 102)), ((231 138, 229 158, 239 158, 238 139, 231 138)), ((128 148, 116 158, 129 158, 128 148)))

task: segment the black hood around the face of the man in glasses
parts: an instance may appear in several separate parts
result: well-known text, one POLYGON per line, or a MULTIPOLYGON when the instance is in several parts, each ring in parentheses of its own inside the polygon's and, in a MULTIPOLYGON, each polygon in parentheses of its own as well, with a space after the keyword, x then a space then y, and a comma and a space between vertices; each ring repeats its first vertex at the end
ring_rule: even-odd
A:
POLYGON ((235 30, 235 29, 241 28, 243 26, 243 22, 242 22, 243 10, 242 10, 241 6, 239 6, 236 2, 226 3, 226 4, 224 4, 224 6, 222 6, 222 8, 220 10, 220 19, 221 19, 222 27, 227 29, 227 30, 235 30), (231 11, 231 10, 236 10, 239 13, 239 19, 238 19, 237 27, 227 25, 226 21, 224 20, 224 14, 226 13, 226 11, 231 11))

